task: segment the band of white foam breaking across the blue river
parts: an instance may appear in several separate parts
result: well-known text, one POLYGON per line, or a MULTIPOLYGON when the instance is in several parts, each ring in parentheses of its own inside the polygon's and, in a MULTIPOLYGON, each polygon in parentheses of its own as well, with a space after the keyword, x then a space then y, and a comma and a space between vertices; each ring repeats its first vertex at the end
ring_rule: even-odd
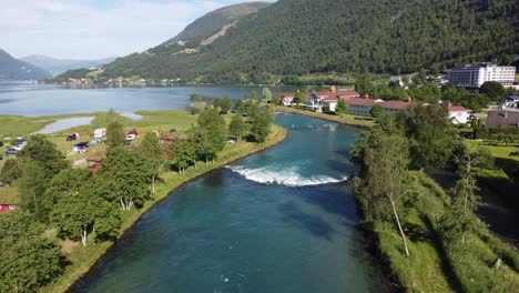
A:
POLYGON ((295 168, 273 170, 269 168, 245 168, 227 165, 227 169, 238 173, 247 180, 263 184, 281 184, 286 186, 312 186, 339 183, 348 180, 348 176, 333 178, 327 175, 305 176, 295 168))

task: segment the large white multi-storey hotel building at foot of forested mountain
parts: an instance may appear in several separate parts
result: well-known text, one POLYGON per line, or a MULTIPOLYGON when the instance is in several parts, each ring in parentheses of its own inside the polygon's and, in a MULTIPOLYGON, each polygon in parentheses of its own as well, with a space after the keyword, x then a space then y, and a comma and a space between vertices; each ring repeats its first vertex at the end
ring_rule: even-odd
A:
POLYGON ((498 67, 493 63, 467 64, 449 69, 447 72, 450 84, 466 88, 479 88, 487 81, 509 85, 516 78, 515 67, 498 67))

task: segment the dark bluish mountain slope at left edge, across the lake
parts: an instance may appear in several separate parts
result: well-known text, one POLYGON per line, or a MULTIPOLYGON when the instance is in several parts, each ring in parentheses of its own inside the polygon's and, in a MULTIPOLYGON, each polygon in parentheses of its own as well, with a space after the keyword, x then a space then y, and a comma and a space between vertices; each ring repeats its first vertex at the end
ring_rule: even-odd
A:
POLYGON ((20 61, 0 49, 0 80, 43 80, 50 77, 45 70, 20 61))

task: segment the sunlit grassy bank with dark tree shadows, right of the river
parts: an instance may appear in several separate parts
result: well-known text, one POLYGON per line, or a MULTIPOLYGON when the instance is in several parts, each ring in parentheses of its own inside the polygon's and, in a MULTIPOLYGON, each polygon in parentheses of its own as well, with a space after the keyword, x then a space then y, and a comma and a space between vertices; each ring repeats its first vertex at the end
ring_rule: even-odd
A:
POLYGON ((409 245, 406 256, 394 222, 377 221, 367 229, 399 290, 408 292, 513 292, 519 286, 519 254, 486 228, 469 233, 465 244, 449 245, 441 236, 441 219, 450 199, 430 178, 410 171, 418 195, 401 215, 409 245), (492 270, 498 257, 499 270, 492 270))

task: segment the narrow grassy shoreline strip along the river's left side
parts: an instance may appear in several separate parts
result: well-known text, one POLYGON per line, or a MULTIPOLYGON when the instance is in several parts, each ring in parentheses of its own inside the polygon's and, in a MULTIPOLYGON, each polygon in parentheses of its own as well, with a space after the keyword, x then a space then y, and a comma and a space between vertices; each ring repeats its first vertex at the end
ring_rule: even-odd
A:
MULTIPOLYGON (((147 201, 141 210, 132 210, 128 214, 122 215, 123 223, 121 225, 121 231, 119 232, 114 241, 99 244, 89 243, 90 245, 86 247, 79 247, 83 251, 94 249, 94 252, 91 254, 91 257, 86 257, 89 263, 86 263, 86 265, 83 266, 81 266, 80 264, 80 266, 71 265, 69 267, 65 267, 65 272, 61 275, 61 277, 58 279, 57 282, 50 283, 47 286, 42 287, 41 292, 70 292, 70 290, 78 282, 80 282, 83 276, 85 276, 99 262, 102 261, 103 256, 106 253, 109 253, 111 249, 115 247, 114 244, 116 244, 119 240, 121 240, 124 235, 126 235, 129 231, 131 231, 131 229, 144 213, 146 213, 151 208, 167 199, 170 195, 173 195, 172 193, 175 192, 177 189, 182 188, 184 184, 190 183, 191 181, 226 164, 236 162, 252 154, 273 148, 282 143, 286 139, 288 133, 286 129, 276 124, 273 124, 272 129, 273 133, 271 133, 268 140, 263 144, 242 144, 246 149, 237 149, 225 152, 215 163, 203 164, 200 165, 197 169, 192 168, 189 171, 186 171, 185 174, 182 175, 172 172, 163 174, 163 176, 165 176, 164 181, 161 184, 157 184, 154 198, 151 201, 147 201)), ((237 146, 241 145, 237 144, 237 146)))

